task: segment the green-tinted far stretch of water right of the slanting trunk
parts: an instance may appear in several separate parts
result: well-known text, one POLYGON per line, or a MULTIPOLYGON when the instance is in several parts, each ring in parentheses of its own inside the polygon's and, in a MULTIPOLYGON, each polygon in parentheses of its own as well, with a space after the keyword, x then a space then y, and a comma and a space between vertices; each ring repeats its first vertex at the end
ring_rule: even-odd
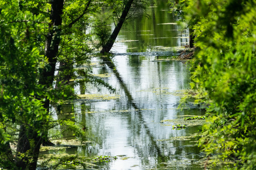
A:
POLYGON ((112 52, 151 52, 174 50, 189 43, 188 30, 182 30, 170 13, 167 0, 152 1, 147 9, 150 16, 129 23, 121 30, 112 52), (154 6, 153 6, 154 4, 154 6))

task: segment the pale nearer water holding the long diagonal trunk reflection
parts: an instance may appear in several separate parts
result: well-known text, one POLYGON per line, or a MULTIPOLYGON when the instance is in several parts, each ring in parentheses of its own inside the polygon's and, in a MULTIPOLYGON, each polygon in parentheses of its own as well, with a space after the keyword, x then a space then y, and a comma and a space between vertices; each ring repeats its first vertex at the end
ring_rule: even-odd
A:
MULTIPOLYGON (((115 86, 121 96, 118 101, 91 101, 87 105, 96 113, 81 113, 90 115, 86 125, 91 127, 91 134, 102 137, 98 155, 125 155, 127 158, 119 157, 110 164, 110 170, 170 169, 171 164, 175 165, 174 169, 181 165, 196 167, 193 161, 198 160, 200 154, 194 140, 171 139, 190 136, 199 127, 174 130, 161 120, 203 115, 204 110, 177 109, 181 97, 173 92, 189 88, 190 73, 182 62, 158 60, 161 58, 166 57, 116 55, 113 58, 116 69, 112 69, 110 62, 105 62, 108 67, 94 68, 94 74, 111 75, 105 80, 115 86)), ((97 92, 96 88, 88 89, 90 93, 97 92)))

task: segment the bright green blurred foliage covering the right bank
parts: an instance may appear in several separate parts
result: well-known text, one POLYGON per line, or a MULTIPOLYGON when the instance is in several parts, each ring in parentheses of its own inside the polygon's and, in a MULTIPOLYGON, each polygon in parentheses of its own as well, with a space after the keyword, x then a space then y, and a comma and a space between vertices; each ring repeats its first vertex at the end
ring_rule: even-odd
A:
POLYGON ((209 103, 199 141, 224 169, 256 169, 256 1, 188 0, 196 35, 193 89, 209 103), (221 163, 227 163, 225 166, 221 163))

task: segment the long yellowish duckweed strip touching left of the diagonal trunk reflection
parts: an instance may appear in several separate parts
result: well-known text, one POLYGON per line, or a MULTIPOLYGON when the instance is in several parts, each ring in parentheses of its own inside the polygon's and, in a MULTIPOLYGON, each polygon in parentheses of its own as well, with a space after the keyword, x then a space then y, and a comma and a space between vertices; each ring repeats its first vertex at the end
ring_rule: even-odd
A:
POLYGON ((116 100, 119 99, 119 95, 112 94, 77 94, 78 99, 85 100, 116 100))

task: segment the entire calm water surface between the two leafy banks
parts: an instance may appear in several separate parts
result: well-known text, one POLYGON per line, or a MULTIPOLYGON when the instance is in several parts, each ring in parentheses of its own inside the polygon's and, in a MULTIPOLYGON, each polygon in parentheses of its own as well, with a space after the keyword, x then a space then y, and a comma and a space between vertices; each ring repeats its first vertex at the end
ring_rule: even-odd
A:
MULTIPOLYGON (((103 79, 117 89, 115 95, 119 98, 67 104, 63 112, 73 112, 70 119, 87 128, 91 143, 55 154, 118 157, 99 163, 101 170, 202 169, 202 155, 193 136, 199 126, 175 130, 172 125, 177 122, 165 121, 204 114, 196 106, 177 109, 181 100, 177 93, 190 88, 190 72, 187 64, 171 57, 177 55, 175 47, 188 43, 188 32, 178 31, 179 27, 173 24, 177 18, 166 7, 166 1, 158 1, 147 11, 151 18, 139 18, 122 29, 111 50, 115 70, 97 57, 92 59, 92 74, 105 74, 103 79)), ((99 88, 81 84, 75 92, 110 94, 106 88, 99 88)), ((60 117, 55 115, 56 119, 60 117)))

